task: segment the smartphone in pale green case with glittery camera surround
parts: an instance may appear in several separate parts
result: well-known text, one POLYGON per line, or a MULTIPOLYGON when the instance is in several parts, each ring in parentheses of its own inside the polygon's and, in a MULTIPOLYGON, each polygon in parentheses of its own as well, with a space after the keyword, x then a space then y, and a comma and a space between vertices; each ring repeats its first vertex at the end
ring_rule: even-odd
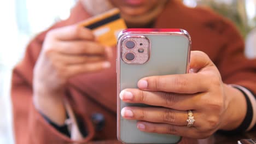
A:
POLYGON ((146 133, 137 121, 124 119, 120 112, 128 104, 120 100, 125 88, 138 88, 143 77, 185 74, 189 71, 191 39, 183 29, 125 29, 117 44, 117 137, 123 143, 177 143, 181 136, 146 133))

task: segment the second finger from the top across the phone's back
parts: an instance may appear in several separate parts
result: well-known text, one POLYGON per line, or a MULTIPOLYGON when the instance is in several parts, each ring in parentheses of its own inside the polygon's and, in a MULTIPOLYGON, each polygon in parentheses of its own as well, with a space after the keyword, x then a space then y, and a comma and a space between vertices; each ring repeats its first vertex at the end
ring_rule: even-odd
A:
POLYGON ((146 104, 187 111, 195 110, 197 107, 199 107, 199 103, 191 103, 191 101, 199 101, 200 97, 198 96, 203 94, 204 93, 179 94, 167 92, 150 92, 142 91, 136 88, 129 88, 121 91, 119 97, 125 103, 146 104))

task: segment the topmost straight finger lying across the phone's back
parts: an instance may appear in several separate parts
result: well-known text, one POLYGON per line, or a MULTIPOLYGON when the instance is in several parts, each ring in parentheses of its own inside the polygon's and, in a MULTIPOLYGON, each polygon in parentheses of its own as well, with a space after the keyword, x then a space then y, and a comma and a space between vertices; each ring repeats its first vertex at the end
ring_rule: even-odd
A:
POLYGON ((147 91, 198 93, 208 90, 206 79, 204 74, 150 76, 139 80, 138 87, 147 91))

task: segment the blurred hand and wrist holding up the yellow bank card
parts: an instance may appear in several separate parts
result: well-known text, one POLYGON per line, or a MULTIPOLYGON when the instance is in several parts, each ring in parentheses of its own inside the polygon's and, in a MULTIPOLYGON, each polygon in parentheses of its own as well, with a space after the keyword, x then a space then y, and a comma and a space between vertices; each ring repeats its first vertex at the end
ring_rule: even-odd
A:
POLYGON ((62 99, 68 79, 109 68, 111 55, 111 49, 98 44, 90 29, 72 25, 49 31, 33 71, 36 108, 56 124, 63 124, 62 99))

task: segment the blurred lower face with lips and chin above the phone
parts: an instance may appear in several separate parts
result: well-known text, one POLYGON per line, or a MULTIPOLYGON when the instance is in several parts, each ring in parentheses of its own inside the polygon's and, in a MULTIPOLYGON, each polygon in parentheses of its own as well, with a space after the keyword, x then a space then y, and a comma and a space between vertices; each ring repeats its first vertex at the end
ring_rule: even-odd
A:
POLYGON ((130 27, 141 27, 155 19, 167 0, 109 0, 119 8, 130 27))

